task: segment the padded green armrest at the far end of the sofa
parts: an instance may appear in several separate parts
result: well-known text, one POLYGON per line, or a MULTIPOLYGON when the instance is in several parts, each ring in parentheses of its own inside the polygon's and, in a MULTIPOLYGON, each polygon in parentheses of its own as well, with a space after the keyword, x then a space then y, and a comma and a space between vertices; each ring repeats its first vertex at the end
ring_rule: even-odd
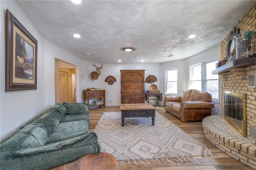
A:
POLYGON ((63 103, 67 109, 66 115, 88 114, 87 103, 63 103))

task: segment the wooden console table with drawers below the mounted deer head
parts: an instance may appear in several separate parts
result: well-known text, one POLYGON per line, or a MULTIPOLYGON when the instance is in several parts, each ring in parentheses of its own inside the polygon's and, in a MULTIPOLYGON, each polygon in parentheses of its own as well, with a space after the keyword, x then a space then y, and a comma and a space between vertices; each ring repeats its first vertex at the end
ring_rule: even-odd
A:
MULTIPOLYGON (((83 90, 84 103, 86 103, 85 101, 87 100, 88 107, 90 108, 89 100, 100 98, 100 99, 103 99, 103 107, 105 107, 105 91, 106 90, 83 90)), ((98 106, 101 107, 102 105, 98 105, 98 106)))

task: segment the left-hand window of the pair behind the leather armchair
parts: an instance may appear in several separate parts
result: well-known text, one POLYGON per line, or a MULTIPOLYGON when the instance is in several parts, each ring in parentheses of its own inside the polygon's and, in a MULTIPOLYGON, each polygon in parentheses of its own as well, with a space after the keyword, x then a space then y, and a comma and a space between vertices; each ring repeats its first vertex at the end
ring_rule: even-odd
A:
POLYGON ((201 63, 190 65, 190 89, 202 91, 201 63))

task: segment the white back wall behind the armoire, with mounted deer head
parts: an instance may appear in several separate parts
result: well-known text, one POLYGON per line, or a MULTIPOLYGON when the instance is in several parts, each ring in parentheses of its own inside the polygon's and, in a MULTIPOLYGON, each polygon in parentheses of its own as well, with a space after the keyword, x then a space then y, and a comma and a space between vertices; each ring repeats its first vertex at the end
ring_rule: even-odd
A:
MULTIPOLYGON (((96 63, 96 66, 100 66, 99 63, 96 63)), ((153 84, 160 87, 159 81, 159 64, 147 64, 147 63, 138 63, 138 64, 108 64, 104 63, 104 66, 101 70, 101 74, 98 80, 92 80, 90 77, 90 73, 92 71, 96 71, 93 63, 84 61, 84 72, 83 72, 83 79, 84 79, 84 89, 87 88, 102 88, 106 90, 106 106, 119 106, 121 103, 121 86, 120 86, 120 70, 128 70, 128 69, 145 69, 145 80, 146 77, 149 75, 154 75, 158 79, 158 81, 154 82, 153 84), (113 85, 108 85, 105 82, 106 77, 112 75, 116 78, 116 82, 113 85), (112 102, 109 101, 112 99, 112 102)), ((145 89, 149 90, 150 83, 145 83, 145 89)))

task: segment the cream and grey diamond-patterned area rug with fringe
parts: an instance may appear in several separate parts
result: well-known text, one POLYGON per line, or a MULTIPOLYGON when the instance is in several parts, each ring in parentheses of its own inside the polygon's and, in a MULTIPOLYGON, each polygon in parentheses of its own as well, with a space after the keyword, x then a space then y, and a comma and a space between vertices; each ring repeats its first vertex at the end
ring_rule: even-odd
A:
POLYGON ((190 162, 194 156, 217 156, 158 112, 154 126, 151 117, 125 118, 124 127, 121 123, 121 112, 105 112, 94 131, 101 152, 123 164, 190 162))

